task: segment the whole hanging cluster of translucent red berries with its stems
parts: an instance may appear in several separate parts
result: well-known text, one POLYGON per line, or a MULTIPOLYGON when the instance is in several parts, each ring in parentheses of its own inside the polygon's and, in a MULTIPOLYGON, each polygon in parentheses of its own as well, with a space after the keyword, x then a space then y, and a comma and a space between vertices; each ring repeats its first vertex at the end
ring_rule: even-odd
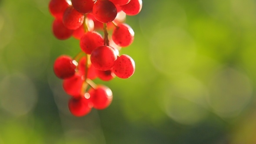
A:
POLYGON ((81 52, 73 58, 59 56, 53 65, 71 96, 68 106, 73 115, 84 116, 92 108, 104 109, 112 102, 111 89, 92 80, 127 79, 135 72, 134 60, 120 56, 119 50, 134 39, 133 29, 124 23, 126 15, 138 14, 141 7, 142 0, 50 0, 54 36, 80 41, 81 52))

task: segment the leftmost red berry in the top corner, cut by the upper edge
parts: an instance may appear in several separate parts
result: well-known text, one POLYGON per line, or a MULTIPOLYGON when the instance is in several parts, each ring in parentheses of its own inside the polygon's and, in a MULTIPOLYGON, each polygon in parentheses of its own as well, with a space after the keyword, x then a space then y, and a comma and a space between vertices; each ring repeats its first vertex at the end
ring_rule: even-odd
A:
POLYGON ((62 20, 64 11, 69 7, 66 0, 51 0, 49 2, 49 11, 53 17, 62 20))

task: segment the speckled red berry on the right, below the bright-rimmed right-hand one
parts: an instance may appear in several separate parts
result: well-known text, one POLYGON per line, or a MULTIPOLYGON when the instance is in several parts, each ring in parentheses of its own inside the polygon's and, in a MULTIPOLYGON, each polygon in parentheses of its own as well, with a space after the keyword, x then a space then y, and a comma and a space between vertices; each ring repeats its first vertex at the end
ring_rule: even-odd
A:
POLYGON ((128 79, 135 72, 135 62, 128 55, 121 55, 115 61, 113 72, 121 79, 128 79))

